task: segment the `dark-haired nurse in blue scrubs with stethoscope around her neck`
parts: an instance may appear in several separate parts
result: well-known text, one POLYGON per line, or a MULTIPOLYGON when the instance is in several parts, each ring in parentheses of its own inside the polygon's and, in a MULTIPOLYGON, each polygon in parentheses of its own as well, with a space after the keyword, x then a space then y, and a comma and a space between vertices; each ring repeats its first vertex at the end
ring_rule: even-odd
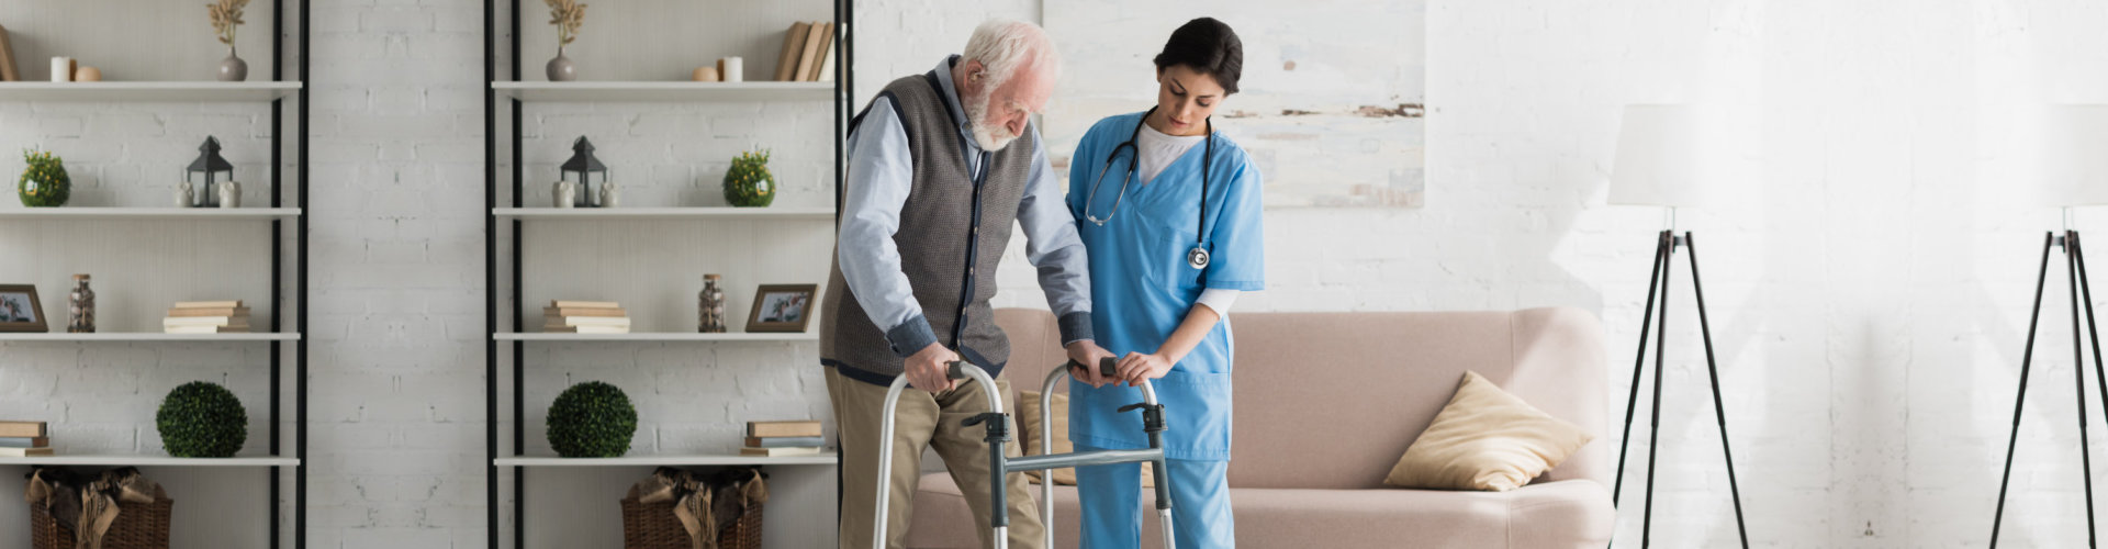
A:
MULTIPOLYGON (((1147 448, 1138 414, 1149 380, 1164 433, 1180 549, 1235 545, 1229 509, 1229 306, 1265 287, 1261 179, 1210 114, 1237 93, 1244 44, 1216 19, 1172 32, 1155 57, 1157 106, 1098 120, 1069 169, 1069 209, 1090 253, 1092 321, 1119 355, 1117 376, 1073 370, 1069 439, 1079 452, 1147 448)), ((1140 543, 1140 465, 1077 469, 1081 547, 1140 543)))

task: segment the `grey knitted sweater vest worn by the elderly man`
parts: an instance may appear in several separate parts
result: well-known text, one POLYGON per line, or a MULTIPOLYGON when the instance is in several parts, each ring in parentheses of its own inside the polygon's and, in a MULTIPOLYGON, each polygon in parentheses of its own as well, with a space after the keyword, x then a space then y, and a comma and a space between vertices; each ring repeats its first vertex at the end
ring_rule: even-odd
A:
MULTIPOLYGON (((1035 133, 1027 131, 1024 137, 989 154, 984 182, 976 188, 961 150, 965 137, 953 122, 936 72, 894 80, 879 97, 892 99, 915 160, 913 190, 900 207, 900 230, 894 232, 900 270, 909 277, 915 302, 921 304, 938 344, 959 351, 989 376, 1001 374, 1010 361, 1010 338, 995 325, 989 300, 995 298, 995 266, 1010 245, 1018 201, 1024 198, 1029 184, 1033 150, 1039 146, 1035 133)), ((885 327, 871 321, 841 279, 839 249, 822 306, 826 315, 820 321, 820 361, 843 376, 892 384, 902 372, 900 353, 917 351, 892 351, 885 327)))

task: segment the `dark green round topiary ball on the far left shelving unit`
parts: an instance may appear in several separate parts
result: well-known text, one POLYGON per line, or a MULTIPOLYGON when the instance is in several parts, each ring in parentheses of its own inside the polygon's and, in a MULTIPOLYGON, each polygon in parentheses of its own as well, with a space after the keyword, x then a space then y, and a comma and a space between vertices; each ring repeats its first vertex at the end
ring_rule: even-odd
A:
POLYGON ((160 448, 177 458, 232 458, 249 441, 242 401, 213 382, 186 382, 169 391, 154 424, 160 427, 160 448))

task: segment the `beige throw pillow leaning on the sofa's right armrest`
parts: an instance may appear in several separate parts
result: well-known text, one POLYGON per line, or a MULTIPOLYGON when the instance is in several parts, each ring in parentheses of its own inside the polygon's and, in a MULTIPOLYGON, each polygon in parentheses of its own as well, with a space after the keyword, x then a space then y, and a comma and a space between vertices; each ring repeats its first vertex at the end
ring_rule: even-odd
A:
POLYGON ((1589 439, 1581 427, 1507 395, 1478 372, 1465 372, 1457 395, 1383 484, 1507 492, 1551 471, 1589 439))

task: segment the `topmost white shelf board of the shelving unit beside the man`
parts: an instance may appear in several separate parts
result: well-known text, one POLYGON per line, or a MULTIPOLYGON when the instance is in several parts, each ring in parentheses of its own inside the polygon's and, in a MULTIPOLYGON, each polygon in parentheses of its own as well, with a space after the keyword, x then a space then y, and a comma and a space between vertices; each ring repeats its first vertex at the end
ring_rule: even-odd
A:
POLYGON ((491 82, 521 101, 828 101, 835 82, 491 82))

